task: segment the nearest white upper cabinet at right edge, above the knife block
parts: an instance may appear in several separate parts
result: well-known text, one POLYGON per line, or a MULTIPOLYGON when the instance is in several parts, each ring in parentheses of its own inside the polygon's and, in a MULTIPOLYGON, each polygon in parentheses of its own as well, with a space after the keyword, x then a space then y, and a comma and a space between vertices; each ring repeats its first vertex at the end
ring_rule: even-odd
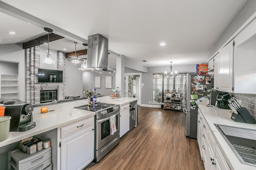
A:
POLYGON ((256 94, 256 18, 235 37, 234 92, 256 94))

